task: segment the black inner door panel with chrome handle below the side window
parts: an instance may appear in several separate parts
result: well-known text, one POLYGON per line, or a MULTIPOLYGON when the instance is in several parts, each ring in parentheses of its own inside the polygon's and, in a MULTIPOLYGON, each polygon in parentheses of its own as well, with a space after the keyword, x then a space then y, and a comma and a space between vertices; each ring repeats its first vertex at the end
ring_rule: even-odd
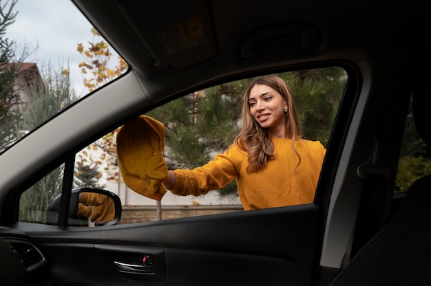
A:
POLYGON ((19 226, 47 257, 54 285, 310 285, 320 213, 308 204, 70 231, 19 226), (133 270, 144 256, 154 267, 133 270))

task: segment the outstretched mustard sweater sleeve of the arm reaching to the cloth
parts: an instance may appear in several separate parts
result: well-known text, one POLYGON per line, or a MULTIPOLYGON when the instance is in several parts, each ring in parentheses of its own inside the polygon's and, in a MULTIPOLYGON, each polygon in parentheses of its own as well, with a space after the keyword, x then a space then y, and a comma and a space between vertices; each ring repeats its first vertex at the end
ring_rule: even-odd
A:
POLYGON ((223 188, 239 174, 244 158, 244 153, 234 145, 204 166, 193 170, 174 170, 176 183, 170 191, 175 195, 199 196, 223 188))

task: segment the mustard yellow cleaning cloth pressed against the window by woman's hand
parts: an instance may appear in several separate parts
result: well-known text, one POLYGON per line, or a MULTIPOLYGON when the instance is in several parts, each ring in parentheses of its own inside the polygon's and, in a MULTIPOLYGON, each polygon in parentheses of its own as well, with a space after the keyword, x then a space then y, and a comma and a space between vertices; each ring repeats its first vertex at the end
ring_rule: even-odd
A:
POLYGON ((160 201, 167 192, 165 125, 147 115, 121 126, 116 137, 118 166, 129 188, 140 195, 160 201))

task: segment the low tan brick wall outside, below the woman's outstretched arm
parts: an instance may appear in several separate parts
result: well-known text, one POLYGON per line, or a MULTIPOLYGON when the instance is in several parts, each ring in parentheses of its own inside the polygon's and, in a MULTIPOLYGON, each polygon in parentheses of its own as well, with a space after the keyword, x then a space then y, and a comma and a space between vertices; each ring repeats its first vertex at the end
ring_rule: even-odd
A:
MULTIPOLYGON (((162 219, 198 217, 207 214, 242 211, 242 206, 162 206, 162 219)), ((157 220, 156 206, 123 206, 118 224, 138 223, 157 220)))

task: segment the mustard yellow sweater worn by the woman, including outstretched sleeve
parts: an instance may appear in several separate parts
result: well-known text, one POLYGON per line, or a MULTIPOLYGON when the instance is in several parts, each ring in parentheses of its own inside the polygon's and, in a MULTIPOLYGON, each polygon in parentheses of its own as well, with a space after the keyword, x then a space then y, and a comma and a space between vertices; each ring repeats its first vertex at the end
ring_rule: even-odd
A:
POLYGON ((246 173, 248 155, 233 145, 204 166, 175 170, 176 184, 170 191, 199 196, 236 178, 244 210, 312 203, 326 149, 318 141, 295 141, 301 164, 294 170, 298 158, 291 148, 292 141, 272 140, 277 156, 258 173, 246 173))

